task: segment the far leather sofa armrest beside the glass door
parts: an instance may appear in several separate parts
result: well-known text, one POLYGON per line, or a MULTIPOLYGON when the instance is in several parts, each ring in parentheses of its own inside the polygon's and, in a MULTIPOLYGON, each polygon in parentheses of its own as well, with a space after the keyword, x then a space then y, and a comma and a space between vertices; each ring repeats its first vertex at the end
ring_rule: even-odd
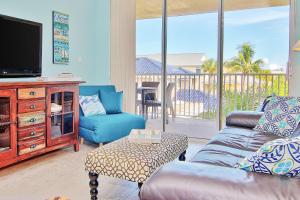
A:
POLYGON ((244 128, 254 128, 263 112, 256 111, 236 111, 226 117, 226 126, 238 126, 244 128))

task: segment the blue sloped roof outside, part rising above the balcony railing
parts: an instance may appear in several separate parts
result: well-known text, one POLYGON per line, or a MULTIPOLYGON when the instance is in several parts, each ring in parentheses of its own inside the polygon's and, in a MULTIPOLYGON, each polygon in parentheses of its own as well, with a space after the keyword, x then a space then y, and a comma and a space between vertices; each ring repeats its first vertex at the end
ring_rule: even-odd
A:
MULTIPOLYGON (((171 65, 167 66, 168 74, 193 74, 188 70, 174 67, 171 65)), ((136 59, 136 74, 161 74, 161 62, 152 60, 150 58, 140 57, 136 59)))

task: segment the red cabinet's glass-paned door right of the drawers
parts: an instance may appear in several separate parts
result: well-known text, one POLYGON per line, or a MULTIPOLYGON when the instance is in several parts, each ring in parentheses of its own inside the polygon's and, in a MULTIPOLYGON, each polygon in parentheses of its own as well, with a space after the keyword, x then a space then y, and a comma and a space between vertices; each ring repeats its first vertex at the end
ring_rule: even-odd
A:
POLYGON ((47 92, 47 145, 78 142, 78 87, 53 87, 47 92))

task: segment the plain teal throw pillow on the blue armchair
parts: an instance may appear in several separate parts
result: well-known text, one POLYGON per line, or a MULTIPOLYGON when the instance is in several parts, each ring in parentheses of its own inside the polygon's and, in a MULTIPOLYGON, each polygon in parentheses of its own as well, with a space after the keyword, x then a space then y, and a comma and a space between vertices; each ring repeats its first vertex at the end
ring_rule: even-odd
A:
POLYGON ((107 114, 122 113, 123 92, 100 91, 100 98, 107 114))

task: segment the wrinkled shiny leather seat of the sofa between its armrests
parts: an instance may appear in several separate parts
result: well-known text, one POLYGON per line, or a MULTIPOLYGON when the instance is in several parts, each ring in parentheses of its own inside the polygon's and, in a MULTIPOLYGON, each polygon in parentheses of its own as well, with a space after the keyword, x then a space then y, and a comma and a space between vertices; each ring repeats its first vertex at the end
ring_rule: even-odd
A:
POLYGON ((247 128, 227 127, 215 135, 191 162, 234 167, 241 159, 257 151, 265 142, 278 138, 247 128))

